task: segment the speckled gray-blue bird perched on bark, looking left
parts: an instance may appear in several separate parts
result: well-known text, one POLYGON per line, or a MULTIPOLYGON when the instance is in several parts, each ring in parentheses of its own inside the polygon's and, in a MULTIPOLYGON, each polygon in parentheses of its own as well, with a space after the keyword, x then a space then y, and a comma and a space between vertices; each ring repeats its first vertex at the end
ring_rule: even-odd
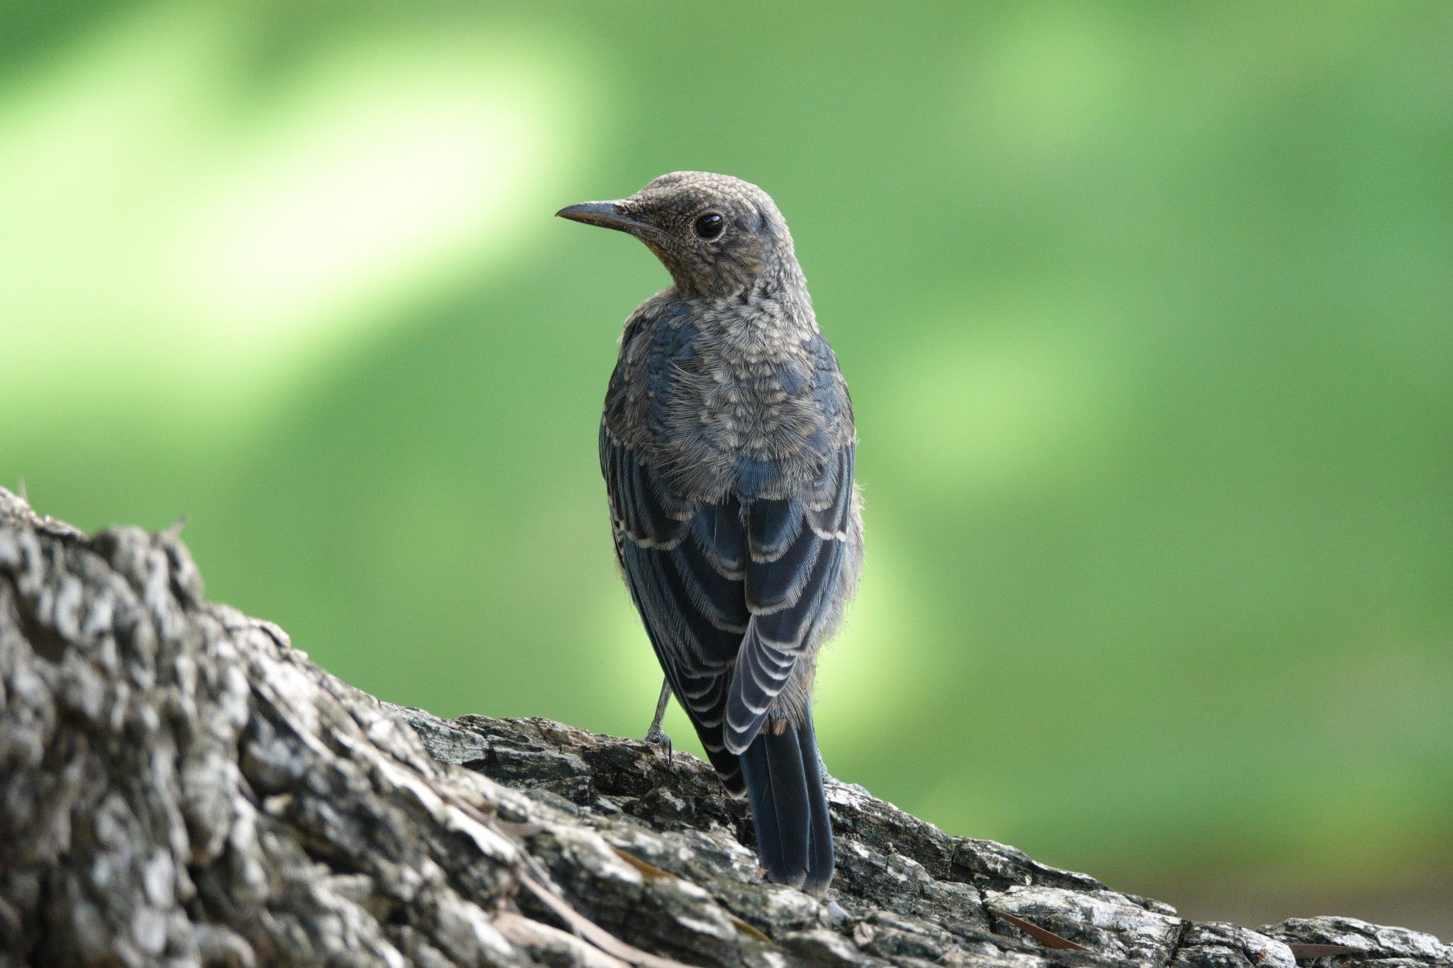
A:
POLYGON ((634 235, 671 276, 620 334, 600 421, 616 562, 667 692, 769 881, 833 879, 811 689, 863 562, 857 431, 788 223, 757 186, 673 171, 558 216, 634 235))

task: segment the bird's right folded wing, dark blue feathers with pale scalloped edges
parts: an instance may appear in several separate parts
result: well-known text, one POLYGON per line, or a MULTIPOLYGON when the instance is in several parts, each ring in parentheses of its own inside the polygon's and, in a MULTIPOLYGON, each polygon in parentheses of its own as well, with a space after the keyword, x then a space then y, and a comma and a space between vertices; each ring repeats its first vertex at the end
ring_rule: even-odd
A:
POLYGON ((840 595, 853 499, 853 444, 827 462, 802 496, 747 505, 750 620, 726 695, 724 745, 741 753, 798 660, 819 639, 840 595))

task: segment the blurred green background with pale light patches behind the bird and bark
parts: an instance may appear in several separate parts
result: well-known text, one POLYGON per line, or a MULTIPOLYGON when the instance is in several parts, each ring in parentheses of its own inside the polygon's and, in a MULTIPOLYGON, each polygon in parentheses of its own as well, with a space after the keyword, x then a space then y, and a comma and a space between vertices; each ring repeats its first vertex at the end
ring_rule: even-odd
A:
MULTIPOLYGON (((843 779, 1453 933, 1453 6, 7 4, 0 482, 442 714, 641 734, 596 425, 676 168, 859 415, 843 779)), ((668 729, 690 747, 673 711, 668 729)))

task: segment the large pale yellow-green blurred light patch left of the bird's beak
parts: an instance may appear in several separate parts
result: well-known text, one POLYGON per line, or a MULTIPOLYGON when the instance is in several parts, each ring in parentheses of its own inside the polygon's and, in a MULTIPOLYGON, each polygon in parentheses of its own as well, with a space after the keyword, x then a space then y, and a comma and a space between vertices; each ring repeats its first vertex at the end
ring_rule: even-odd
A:
POLYGON ((570 123, 548 48, 346 38, 253 102, 235 16, 154 7, 0 93, 12 418, 62 380, 73 405, 254 414, 548 223, 570 123))

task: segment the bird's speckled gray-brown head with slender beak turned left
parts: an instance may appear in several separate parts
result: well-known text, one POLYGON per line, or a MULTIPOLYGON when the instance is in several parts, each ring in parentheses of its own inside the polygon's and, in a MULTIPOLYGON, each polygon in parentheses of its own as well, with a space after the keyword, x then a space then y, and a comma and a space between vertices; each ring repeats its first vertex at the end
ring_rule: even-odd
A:
POLYGON ((673 171, 628 199, 581 202, 555 215, 635 235, 686 296, 802 280, 792 235, 772 197, 731 176, 673 171))

